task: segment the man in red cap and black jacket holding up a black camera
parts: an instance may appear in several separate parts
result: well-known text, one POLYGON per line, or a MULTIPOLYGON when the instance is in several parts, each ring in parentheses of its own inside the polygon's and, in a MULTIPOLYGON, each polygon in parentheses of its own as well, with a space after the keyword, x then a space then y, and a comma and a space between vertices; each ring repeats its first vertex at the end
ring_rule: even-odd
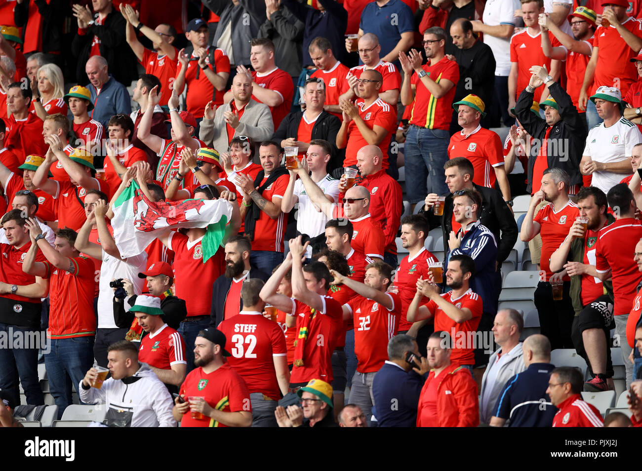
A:
MULTIPOLYGON (((150 296, 160 298, 160 309, 164 313, 162 320, 169 325, 172 329, 178 329, 180 321, 187 317, 187 309, 185 307, 185 300, 177 298, 171 292, 171 285, 174 282, 173 271, 168 262, 152 262, 147 270, 138 274, 139 278, 147 278, 147 289, 150 296)), ((123 279, 123 289, 125 290, 126 298, 123 296, 122 291, 114 293, 114 321, 116 325, 123 329, 130 328, 127 332, 127 340, 140 341, 143 336, 142 329, 137 325, 132 325, 134 321, 134 313, 132 311, 125 312, 125 300, 128 305, 133 306, 136 304, 136 295, 134 294, 134 286, 130 280, 123 279), (136 338, 137 335, 137 338, 136 338)))

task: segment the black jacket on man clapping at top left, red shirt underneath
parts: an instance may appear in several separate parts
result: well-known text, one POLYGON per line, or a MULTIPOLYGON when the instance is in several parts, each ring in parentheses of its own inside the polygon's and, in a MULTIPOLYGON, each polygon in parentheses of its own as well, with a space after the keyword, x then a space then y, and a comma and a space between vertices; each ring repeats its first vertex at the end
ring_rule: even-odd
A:
POLYGON ((91 52, 94 35, 100 39, 100 55, 107 59, 107 70, 114 78, 129 87, 137 78, 136 56, 125 39, 126 21, 116 8, 105 17, 102 25, 92 24, 85 35, 76 33, 71 43, 71 53, 76 58, 76 80, 81 85, 89 83, 85 73, 85 64, 91 52))

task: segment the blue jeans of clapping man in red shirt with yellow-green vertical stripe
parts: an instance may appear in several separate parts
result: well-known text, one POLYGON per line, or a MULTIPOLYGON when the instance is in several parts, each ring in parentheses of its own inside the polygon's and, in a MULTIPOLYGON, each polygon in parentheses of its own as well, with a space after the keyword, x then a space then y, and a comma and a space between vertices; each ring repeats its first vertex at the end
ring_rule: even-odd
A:
POLYGON ((431 193, 449 194, 444 177, 448 160, 450 134, 447 130, 410 126, 404 144, 406 193, 411 204, 423 201, 428 194, 426 179, 430 176, 431 193))

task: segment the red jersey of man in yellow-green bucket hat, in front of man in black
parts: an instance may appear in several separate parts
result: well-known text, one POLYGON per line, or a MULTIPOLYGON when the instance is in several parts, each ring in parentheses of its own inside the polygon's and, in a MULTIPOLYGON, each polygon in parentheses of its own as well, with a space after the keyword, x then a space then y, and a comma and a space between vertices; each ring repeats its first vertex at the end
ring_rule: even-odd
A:
POLYGON ((471 134, 456 132, 448 144, 448 158, 465 157, 474 167, 473 183, 482 187, 495 187, 494 167, 504 164, 501 139, 489 129, 477 126, 471 134))

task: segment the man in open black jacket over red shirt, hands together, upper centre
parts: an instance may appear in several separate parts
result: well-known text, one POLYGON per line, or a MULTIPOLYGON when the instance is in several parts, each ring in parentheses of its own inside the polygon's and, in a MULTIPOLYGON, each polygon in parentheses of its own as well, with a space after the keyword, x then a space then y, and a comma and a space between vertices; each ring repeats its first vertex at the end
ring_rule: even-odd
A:
POLYGON ((299 155, 306 155, 310 141, 314 139, 330 142, 333 148, 333 158, 327 166, 327 171, 331 173, 343 162, 343 156, 338 156, 334 144, 336 133, 341 128, 341 121, 323 108, 325 105, 325 85, 321 78, 306 80, 303 101, 306 103, 306 110, 295 111, 284 117, 279 128, 274 132, 272 140, 280 142, 283 148, 298 147, 299 155))

